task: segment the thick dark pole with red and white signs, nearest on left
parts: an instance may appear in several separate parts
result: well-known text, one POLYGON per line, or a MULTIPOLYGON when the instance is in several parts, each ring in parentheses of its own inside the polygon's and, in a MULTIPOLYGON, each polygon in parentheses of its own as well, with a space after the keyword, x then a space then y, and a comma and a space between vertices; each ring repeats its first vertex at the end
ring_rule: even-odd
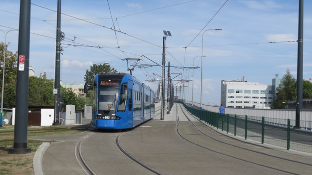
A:
POLYGON ((30 4, 30 0, 20 0, 14 144, 9 154, 31 152, 27 148, 30 4))

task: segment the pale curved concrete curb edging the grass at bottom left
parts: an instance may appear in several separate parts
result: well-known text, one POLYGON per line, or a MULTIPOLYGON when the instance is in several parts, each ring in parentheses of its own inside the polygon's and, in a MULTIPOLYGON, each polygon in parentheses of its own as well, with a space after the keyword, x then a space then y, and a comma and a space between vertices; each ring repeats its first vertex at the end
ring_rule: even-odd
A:
POLYGON ((34 175, 43 175, 43 169, 42 169, 42 159, 44 152, 46 149, 50 146, 50 143, 42 143, 40 147, 37 149, 36 153, 33 157, 33 173, 34 175))

